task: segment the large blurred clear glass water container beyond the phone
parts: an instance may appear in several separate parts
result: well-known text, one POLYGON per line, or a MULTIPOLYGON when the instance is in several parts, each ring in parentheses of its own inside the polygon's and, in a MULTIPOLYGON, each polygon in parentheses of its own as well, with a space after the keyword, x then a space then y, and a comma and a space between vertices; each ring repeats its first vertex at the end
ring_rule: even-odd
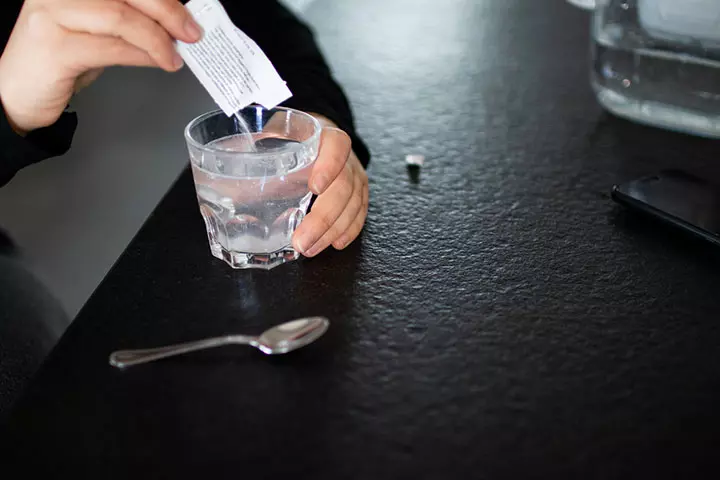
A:
POLYGON ((611 112, 720 137, 720 1, 597 0, 592 84, 611 112))

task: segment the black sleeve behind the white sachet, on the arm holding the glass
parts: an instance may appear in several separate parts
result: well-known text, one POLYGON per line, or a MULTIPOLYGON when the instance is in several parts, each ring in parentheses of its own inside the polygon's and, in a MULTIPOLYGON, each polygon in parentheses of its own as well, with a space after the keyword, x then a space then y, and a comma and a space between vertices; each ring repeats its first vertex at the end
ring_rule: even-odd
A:
POLYGON ((222 0, 235 25, 252 38, 287 82, 283 105, 324 115, 345 130, 364 166, 370 152, 355 130, 350 104, 318 48, 313 32, 277 0, 222 0))

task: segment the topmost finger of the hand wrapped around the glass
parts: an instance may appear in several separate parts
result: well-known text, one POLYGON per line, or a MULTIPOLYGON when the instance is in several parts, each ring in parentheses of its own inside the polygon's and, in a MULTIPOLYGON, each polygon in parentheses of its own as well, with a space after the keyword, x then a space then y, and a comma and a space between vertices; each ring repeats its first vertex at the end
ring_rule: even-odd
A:
POLYGON ((350 157, 352 142, 347 133, 339 128, 323 129, 320 153, 313 165, 310 175, 310 189, 320 195, 331 185, 343 171, 350 157))

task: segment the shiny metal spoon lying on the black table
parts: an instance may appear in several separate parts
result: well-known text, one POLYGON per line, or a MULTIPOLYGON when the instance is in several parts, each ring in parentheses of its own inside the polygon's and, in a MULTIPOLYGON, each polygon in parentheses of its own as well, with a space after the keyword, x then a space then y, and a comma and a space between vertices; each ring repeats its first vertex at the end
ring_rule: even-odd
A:
POLYGON ((167 347, 119 350, 110 355, 110 365, 117 368, 131 367, 161 358, 233 344, 251 345, 267 355, 288 353, 311 344, 320 338, 329 326, 330 321, 327 318, 308 317, 277 325, 266 330, 259 337, 228 335, 167 347))

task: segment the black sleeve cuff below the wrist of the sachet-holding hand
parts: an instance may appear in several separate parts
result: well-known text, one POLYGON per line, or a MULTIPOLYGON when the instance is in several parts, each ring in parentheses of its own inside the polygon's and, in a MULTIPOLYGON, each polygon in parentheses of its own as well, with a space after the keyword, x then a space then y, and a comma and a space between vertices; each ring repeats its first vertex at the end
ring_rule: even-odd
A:
POLYGON ((5 111, 0 108, 0 186, 21 168, 67 152, 76 127, 77 115, 63 113, 50 127, 21 137, 10 127, 5 111))

